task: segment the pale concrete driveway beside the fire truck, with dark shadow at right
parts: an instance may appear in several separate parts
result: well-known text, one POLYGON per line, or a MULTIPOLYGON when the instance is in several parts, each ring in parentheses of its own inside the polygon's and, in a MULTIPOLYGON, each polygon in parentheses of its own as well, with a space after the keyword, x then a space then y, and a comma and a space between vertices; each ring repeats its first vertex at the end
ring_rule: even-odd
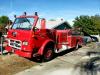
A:
POLYGON ((100 59, 96 58, 96 64, 93 64, 94 61, 91 61, 91 59, 100 56, 99 51, 99 45, 91 43, 77 51, 67 51, 52 61, 39 63, 15 75, 100 75, 98 70, 100 65, 96 63, 98 61, 100 64, 100 59))

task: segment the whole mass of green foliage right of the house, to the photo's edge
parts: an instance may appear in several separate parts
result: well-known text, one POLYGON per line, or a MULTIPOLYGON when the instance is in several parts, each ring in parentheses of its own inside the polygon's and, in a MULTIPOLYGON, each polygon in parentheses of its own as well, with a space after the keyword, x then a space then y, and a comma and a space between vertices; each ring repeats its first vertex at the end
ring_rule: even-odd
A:
POLYGON ((79 16, 74 20, 74 27, 80 27, 89 34, 100 33, 100 16, 79 16))

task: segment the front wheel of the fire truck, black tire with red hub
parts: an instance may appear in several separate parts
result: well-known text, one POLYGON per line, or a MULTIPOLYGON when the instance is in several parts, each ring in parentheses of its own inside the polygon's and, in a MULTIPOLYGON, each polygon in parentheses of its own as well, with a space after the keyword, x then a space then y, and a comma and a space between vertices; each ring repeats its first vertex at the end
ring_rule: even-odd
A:
POLYGON ((43 61, 47 62, 52 60, 54 57, 54 49, 53 48, 46 48, 43 54, 43 61))

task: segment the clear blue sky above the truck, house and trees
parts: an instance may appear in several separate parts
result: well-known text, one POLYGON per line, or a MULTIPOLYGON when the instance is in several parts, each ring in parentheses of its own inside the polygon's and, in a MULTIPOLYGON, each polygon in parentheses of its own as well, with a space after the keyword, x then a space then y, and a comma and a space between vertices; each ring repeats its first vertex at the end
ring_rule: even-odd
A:
POLYGON ((41 18, 67 20, 70 24, 76 16, 100 14, 100 0, 0 0, 0 16, 22 15, 38 12, 41 18))

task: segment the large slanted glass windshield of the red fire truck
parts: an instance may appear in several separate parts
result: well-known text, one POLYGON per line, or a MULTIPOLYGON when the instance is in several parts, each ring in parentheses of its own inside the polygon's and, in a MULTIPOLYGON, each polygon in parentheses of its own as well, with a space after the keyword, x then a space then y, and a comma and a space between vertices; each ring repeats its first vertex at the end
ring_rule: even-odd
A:
POLYGON ((30 30, 34 23, 34 18, 16 18, 12 29, 30 30))

